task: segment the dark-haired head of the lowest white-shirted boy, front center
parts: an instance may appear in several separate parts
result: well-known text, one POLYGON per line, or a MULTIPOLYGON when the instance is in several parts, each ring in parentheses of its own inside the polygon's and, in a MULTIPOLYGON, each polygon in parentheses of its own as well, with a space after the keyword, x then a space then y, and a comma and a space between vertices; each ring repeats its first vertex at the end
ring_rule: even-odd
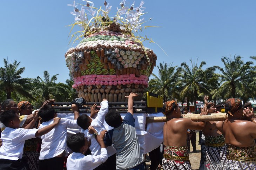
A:
POLYGON ((87 151, 89 147, 89 142, 85 138, 85 134, 83 133, 76 133, 72 134, 67 139, 67 146, 73 151, 78 153, 83 153, 87 151))

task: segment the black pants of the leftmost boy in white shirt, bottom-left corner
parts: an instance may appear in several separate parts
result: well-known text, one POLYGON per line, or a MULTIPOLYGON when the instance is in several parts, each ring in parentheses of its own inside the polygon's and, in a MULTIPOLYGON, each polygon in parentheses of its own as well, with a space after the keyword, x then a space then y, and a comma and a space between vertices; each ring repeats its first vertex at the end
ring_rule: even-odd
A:
POLYGON ((17 161, 0 159, 0 169, 1 170, 28 170, 22 159, 19 159, 17 161))

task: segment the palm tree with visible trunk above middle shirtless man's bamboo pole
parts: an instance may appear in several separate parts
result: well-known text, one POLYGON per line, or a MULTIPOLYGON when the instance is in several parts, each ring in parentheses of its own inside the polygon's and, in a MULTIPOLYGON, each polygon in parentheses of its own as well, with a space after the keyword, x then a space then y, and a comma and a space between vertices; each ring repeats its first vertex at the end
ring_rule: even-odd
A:
POLYGON ((202 61, 199 67, 197 66, 197 62, 196 64, 195 62, 193 63, 192 60, 190 60, 190 62, 192 67, 189 67, 186 62, 182 62, 181 67, 177 68, 177 72, 179 72, 181 76, 177 85, 181 87, 181 98, 187 97, 188 100, 188 98, 192 96, 196 112, 198 96, 210 93, 208 81, 213 77, 215 68, 209 67, 204 70, 202 67, 206 65, 205 61, 202 61))

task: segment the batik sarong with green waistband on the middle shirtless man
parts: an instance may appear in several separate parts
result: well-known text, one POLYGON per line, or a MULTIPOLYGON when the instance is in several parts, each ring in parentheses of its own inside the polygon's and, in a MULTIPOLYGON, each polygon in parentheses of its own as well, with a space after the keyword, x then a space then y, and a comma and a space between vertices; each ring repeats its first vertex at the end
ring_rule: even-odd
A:
MULTIPOLYGON (((205 136, 206 164, 224 164, 226 161, 227 147, 223 135, 205 136)), ((211 167, 210 169, 218 169, 211 167)))

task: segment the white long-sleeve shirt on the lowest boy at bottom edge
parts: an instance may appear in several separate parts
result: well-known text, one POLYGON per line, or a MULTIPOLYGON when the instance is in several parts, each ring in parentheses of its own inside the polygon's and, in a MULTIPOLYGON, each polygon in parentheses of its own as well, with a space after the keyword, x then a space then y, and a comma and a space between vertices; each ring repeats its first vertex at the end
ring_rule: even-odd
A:
POLYGON ((101 148, 101 153, 97 156, 85 156, 81 153, 73 152, 73 154, 68 156, 67 170, 93 170, 106 162, 107 158, 106 148, 101 148))

